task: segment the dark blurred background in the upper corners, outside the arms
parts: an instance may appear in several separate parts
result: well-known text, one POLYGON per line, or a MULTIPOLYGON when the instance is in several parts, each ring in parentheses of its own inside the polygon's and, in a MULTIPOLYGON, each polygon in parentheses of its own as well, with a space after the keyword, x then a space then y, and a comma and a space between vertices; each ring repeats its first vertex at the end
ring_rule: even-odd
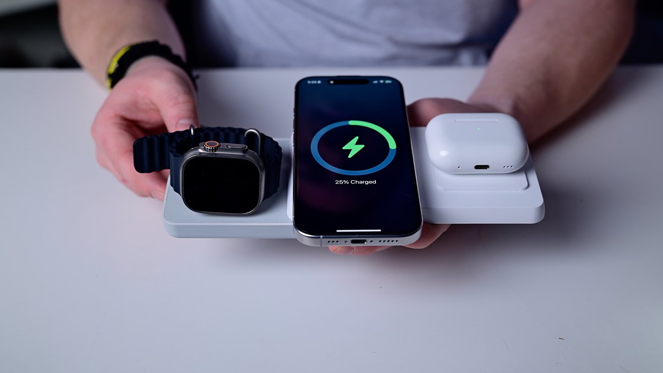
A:
MULTIPOLYGON (((663 0, 638 2, 634 37, 621 63, 663 63, 663 0)), ((60 35, 55 0, 0 0, 0 68, 77 67, 60 35)))

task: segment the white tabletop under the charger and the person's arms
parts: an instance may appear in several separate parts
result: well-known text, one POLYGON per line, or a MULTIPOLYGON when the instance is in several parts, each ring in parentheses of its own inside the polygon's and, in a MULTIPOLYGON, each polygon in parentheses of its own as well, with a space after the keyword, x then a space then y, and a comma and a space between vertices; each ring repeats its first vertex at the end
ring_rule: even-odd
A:
MULTIPOLYGON (((313 74, 465 98, 476 68, 201 72, 207 125, 291 131, 313 74)), ((661 372, 663 67, 621 68, 534 147, 546 217, 452 226, 427 250, 176 239, 97 166, 106 92, 0 71, 2 372, 661 372)))

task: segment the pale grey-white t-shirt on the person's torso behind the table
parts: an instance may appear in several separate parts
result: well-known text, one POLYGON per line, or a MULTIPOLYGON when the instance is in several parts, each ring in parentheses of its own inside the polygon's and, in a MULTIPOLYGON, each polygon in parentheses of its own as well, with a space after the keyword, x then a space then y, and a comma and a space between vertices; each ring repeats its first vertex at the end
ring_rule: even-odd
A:
POLYGON ((203 66, 484 64, 515 0, 200 0, 203 66))

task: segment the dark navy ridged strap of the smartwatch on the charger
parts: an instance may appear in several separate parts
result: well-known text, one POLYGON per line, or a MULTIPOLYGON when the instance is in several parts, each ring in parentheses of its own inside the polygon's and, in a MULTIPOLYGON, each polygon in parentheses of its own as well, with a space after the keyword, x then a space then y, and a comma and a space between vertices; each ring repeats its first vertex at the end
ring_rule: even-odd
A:
POLYGON ((205 141, 247 145, 265 164, 265 196, 269 198, 278 189, 283 152, 278 142, 261 133, 245 136, 246 129, 234 127, 204 127, 160 135, 145 136, 133 143, 133 167, 139 173, 151 173, 170 168, 170 185, 180 192, 180 163, 184 153, 205 141), (257 149, 261 143, 262 149, 257 149))

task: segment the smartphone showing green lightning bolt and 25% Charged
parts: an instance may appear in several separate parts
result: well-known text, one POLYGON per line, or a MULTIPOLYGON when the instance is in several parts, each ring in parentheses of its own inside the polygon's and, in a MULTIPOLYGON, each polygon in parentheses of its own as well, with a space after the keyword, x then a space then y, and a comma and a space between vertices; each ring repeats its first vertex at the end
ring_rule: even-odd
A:
POLYGON ((419 238, 421 206, 398 80, 300 80, 293 153, 293 224, 300 242, 380 246, 419 238))

